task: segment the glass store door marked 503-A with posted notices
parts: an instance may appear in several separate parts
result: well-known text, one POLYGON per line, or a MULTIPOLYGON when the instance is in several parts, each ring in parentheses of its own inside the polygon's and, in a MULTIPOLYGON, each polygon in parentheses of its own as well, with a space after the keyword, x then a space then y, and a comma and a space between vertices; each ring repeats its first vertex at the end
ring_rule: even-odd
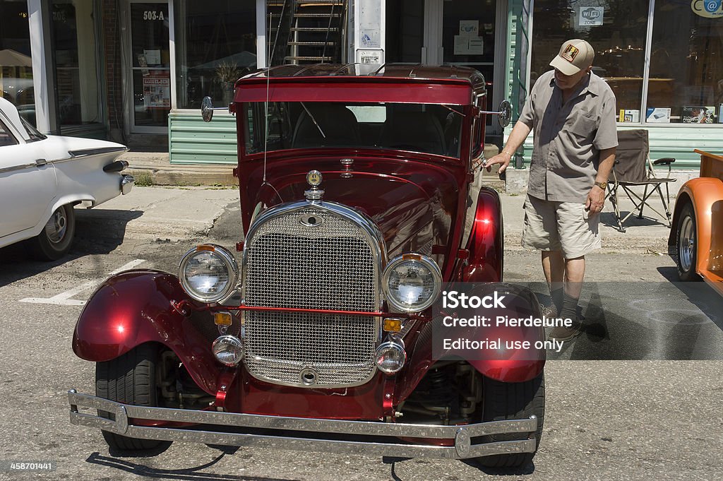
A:
POLYGON ((171 12, 168 1, 130 0, 128 64, 131 132, 168 132, 171 110, 171 12))

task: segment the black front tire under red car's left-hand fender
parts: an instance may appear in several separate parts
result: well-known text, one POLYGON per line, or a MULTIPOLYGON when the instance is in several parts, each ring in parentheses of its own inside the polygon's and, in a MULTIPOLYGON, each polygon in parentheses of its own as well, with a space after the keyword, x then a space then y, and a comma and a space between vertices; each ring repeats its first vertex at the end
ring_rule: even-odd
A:
MULTIPOLYGON (((161 349, 158 344, 146 343, 131 349, 121 357, 95 364, 95 396, 134 406, 158 406, 156 365, 161 349)), ((106 419, 114 414, 98 411, 106 419)), ((102 431, 108 447, 117 451, 149 451, 169 446, 170 441, 136 439, 102 431)))

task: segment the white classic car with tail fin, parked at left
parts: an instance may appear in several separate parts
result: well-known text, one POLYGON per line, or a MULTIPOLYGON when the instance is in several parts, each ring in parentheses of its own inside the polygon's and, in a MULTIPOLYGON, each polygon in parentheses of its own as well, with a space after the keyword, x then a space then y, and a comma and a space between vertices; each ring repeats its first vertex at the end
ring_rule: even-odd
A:
POLYGON ((95 207, 133 187, 124 145, 43 135, 0 98, 0 247, 25 239, 36 257, 70 249, 74 205, 95 207))

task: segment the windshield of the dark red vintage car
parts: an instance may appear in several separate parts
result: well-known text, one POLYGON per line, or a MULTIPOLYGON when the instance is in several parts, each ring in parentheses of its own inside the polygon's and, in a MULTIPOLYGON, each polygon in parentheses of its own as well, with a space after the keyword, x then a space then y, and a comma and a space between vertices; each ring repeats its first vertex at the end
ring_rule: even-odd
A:
POLYGON ((461 106, 410 103, 246 104, 246 153, 291 148, 392 148, 460 157, 461 106))

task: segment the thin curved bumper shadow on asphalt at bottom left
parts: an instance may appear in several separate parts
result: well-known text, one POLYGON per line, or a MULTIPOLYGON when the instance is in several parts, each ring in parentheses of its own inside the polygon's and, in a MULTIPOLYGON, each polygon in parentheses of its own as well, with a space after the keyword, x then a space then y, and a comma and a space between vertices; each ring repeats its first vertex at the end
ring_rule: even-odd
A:
MULTIPOLYGON (((212 446, 217 448, 215 446, 212 446)), ((285 481, 274 477, 257 477, 257 476, 235 476, 234 474, 216 474, 200 472, 202 469, 213 467, 218 461, 223 459, 226 454, 234 454, 238 448, 228 448, 227 446, 218 447, 221 454, 213 460, 200 466, 184 468, 184 469, 158 469, 139 464, 127 459, 119 459, 115 457, 102 456, 96 452, 88 456, 85 462, 90 464, 98 464, 119 471, 135 474, 137 476, 149 477, 157 480, 181 480, 181 481, 285 481)))

